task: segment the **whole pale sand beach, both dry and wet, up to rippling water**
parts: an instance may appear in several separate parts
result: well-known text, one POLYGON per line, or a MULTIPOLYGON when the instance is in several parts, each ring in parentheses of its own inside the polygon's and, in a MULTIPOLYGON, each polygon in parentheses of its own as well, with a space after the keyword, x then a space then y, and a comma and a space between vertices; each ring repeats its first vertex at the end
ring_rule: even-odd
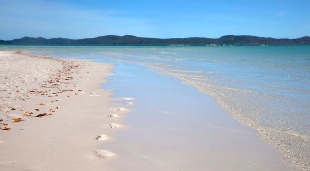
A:
MULTIPOLYGON (((233 120, 211 97, 194 100, 200 95, 192 90, 188 92, 193 97, 173 93, 176 87, 167 87, 164 95, 157 93, 160 88, 148 86, 131 94, 143 103, 136 96, 115 96, 113 86, 104 90, 101 85, 113 75, 113 67, 27 51, 0 51, 0 170, 292 171, 253 129, 233 120), (161 109, 164 103, 171 111, 161 109), (216 115, 196 120, 174 112, 182 108, 180 104, 185 104, 185 113, 216 115), (126 113, 134 106, 138 111, 128 117, 134 123, 125 123, 126 113)), ((150 75, 139 79, 148 82, 147 77, 152 79, 150 75)), ((126 84, 119 85, 124 86, 123 93, 126 84)))

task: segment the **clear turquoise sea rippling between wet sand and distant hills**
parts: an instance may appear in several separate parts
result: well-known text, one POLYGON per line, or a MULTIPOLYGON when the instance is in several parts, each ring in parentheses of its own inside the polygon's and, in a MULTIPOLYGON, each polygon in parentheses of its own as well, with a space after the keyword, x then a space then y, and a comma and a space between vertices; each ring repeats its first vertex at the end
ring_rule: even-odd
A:
MULTIPOLYGON (((140 71, 140 74, 151 68, 154 69, 152 72, 172 76, 176 82, 190 85, 212 96, 235 119, 255 128, 258 135, 280 152, 294 168, 310 170, 310 46, 0 46, 0 50, 12 49, 108 61, 120 66, 130 64, 130 67, 136 66, 133 68, 140 71)), ((115 71, 117 73, 121 69, 115 71)), ((137 76, 137 73, 130 72, 120 74, 129 78, 137 76)), ((163 91, 178 87, 167 87, 173 84, 157 77, 153 79, 158 79, 158 84, 164 84, 157 87, 163 91)), ((143 81, 136 79, 132 83, 144 85, 143 81)), ((131 82, 127 80, 126 83, 131 82)), ((187 93, 186 97, 200 96, 189 93, 188 89, 183 88, 179 92, 187 93)), ((147 99, 143 96, 141 98, 147 99)), ((195 103, 201 104, 201 98, 198 99, 195 103)), ((149 106, 154 107, 155 104, 149 106)), ((177 112, 173 110, 166 111, 166 115, 177 112)), ((189 112, 185 112, 185 118, 188 118, 189 112)), ((196 119, 189 117, 190 120, 210 115, 200 112, 200 115, 194 116, 196 119)))

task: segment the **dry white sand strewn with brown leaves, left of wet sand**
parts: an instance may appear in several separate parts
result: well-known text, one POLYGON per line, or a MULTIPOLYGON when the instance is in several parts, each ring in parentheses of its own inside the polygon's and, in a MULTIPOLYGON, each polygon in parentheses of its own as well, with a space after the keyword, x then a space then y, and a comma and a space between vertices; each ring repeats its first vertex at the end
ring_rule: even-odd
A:
POLYGON ((112 67, 0 51, 0 126, 10 129, 0 171, 111 171, 117 154, 102 147, 129 111, 101 88, 112 67))

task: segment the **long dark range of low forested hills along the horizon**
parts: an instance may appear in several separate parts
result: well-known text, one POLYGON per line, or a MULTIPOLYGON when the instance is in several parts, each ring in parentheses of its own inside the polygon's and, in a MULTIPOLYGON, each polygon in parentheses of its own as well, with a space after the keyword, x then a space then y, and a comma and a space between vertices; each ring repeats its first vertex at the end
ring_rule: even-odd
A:
POLYGON ((0 40, 4 45, 144 45, 144 46, 238 46, 238 45, 310 45, 310 37, 296 39, 258 37, 252 35, 224 35, 220 38, 147 38, 133 35, 104 35, 95 38, 68 39, 23 37, 0 40))

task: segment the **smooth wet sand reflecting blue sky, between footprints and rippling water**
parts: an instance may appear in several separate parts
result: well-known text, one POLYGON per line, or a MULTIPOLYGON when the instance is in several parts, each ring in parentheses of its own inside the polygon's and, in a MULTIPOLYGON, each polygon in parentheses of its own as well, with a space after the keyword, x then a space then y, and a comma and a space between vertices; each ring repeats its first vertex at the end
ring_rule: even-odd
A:
POLYGON ((126 95, 135 96, 138 104, 126 119, 130 129, 109 145, 122 154, 114 164, 118 170, 292 171, 254 129, 231 117, 211 96, 147 66, 115 64, 115 76, 105 86, 119 94, 130 92, 126 95))

